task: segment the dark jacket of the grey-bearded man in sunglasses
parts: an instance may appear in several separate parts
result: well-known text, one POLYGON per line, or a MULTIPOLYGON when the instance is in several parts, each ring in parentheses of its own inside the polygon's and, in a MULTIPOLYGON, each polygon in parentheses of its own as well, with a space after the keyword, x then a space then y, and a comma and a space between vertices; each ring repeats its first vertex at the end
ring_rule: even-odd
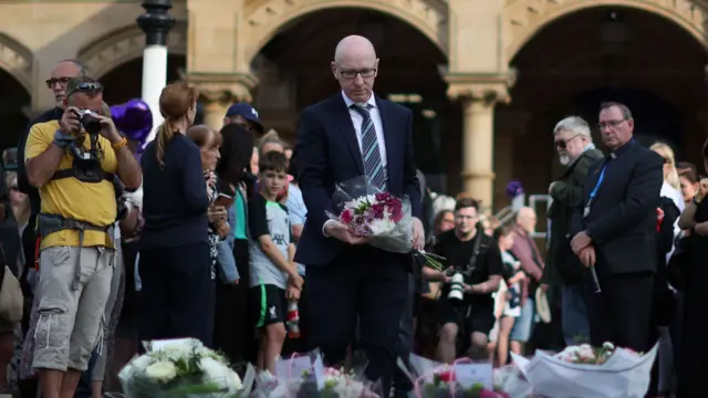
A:
POLYGON ((553 185, 553 202, 548 212, 551 220, 551 244, 543 269, 543 283, 574 283, 582 279, 583 265, 571 250, 568 234, 573 211, 583 199, 583 181, 587 178, 591 166, 603 158, 600 149, 585 150, 553 185))

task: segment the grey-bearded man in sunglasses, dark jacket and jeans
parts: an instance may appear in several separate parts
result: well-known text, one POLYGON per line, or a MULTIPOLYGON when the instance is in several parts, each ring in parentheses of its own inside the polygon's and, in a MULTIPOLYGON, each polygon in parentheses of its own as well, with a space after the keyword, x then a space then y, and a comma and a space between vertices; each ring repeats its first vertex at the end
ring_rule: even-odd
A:
POLYGON ((590 126, 579 116, 570 116, 553 129, 559 159, 566 167, 558 181, 551 184, 549 193, 553 199, 549 209, 551 220, 549 255, 542 282, 560 287, 562 300, 562 327, 565 344, 590 339, 587 310, 583 298, 582 283, 590 275, 570 247, 570 223, 573 208, 582 197, 582 181, 590 166, 603 159, 603 154, 593 145, 590 126))

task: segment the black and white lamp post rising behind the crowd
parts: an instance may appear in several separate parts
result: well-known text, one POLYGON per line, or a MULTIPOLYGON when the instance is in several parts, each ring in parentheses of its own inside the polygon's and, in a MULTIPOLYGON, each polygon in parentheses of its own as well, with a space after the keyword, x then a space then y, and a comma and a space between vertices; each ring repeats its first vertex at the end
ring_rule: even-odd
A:
POLYGON ((142 6, 145 13, 137 18, 137 24, 145 32, 143 100, 153 113, 153 130, 147 136, 150 142, 163 123, 159 95, 167 85, 167 34, 175 25, 175 17, 169 14, 171 0, 144 0, 142 6))

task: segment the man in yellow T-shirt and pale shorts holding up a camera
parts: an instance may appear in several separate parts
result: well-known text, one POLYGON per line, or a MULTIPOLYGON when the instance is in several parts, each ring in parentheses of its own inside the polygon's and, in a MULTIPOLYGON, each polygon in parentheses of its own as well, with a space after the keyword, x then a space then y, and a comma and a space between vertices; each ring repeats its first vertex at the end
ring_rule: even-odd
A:
POLYGON ((32 127, 25 147, 28 180, 40 190, 39 320, 32 366, 44 398, 73 396, 94 346, 115 262, 114 177, 140 185, 139 166, 110 117, 103 86, 80 76, 66 84, 65 112, 32 127))

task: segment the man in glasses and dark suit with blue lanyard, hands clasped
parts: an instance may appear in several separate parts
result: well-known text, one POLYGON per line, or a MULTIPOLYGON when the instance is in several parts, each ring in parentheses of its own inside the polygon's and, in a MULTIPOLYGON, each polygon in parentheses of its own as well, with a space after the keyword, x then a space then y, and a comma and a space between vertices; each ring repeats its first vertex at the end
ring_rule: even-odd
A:
POLYGON ((571 248, 597 276, 586 297, 591 343, 646 353, 653 345, 649 304, 664 159, 634 139, 626 105, 602 104, 598 119, 610 156, 593 165, 584 181, 571 220, 571 248))

